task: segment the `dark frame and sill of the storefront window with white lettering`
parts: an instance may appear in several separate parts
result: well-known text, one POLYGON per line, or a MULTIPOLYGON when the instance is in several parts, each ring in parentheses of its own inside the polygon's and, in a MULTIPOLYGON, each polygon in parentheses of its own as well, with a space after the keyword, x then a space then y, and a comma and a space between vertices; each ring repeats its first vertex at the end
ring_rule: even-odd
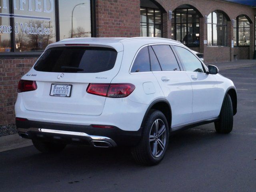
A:
MULTIPOLYGON (((60 40, 60 22, 59 22, 59 1, 54 0, 54 11, 55 11, 55 28, 56 28, 56 42, 60 40)), ((9 3, 9 13, 14 14, 14 4, 13 0, 6 0, 9 3)), ((96 37, 96 10, 95 6, 96 0, 90 0, 90 10, 91 10, 91 32, 92 37, 96 37)), ((10 17, 10 26, 14 29, 14 17, 10 17)), ((11 51, 10 52, 1 52, 0 58, 32 58, 32 57, 39 57, 44 51, 24 51, 24 52, 16 52, 15 51, 15 33, 14 30, 10 33, 10 40, 11 40, 11 51)))

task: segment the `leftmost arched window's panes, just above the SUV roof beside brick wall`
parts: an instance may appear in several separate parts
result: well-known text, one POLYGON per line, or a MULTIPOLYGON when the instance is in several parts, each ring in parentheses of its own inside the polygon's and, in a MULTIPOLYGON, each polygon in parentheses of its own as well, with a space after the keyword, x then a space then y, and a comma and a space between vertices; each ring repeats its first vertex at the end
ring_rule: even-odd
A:
POLYGON ((140 8, 140 36, 162 37, 162 11, 154 8, 140 8))

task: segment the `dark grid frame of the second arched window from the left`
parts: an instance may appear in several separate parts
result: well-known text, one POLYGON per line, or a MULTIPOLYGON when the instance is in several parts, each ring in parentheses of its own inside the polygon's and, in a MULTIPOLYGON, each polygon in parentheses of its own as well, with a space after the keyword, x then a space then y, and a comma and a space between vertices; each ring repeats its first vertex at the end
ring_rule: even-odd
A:
MULTIPOLYGON (((177 10, 179 9, 186 9, 186 31, 188 32, 188 24, 198 24, 199 26, 199 42, 200 42, 200 14, 198 14, 197 10, 194 10, 194 8, 176 8, 174 10, 174 23, 172 24, 173 29, 174 29, 174 33, 173 33, 173 38, 174 40, 177 40, 177 32, 176 32, 176 26, 177 24, 180 24, 180 27, 182 26, 182 24, 185 24, 185 23, 182 23, 182 19, 180 18, 180 22, 177 23, 176 22, 176 15, 177 15, 177 10), (198 15, 198 22, 188 22, 188 10, 189 9, 193 9, 196 14, 198 15)), ((181 12, 179 12, 181 14, 181 12)), ((182 27, 180 28, 180 33, 182 34, 182 27)), ((198 45, 195 45, 195 46, 188 46, 188 42, 186 42, 185 46, 187 47, 200 47, 200 43, 198 43, 198 45)))

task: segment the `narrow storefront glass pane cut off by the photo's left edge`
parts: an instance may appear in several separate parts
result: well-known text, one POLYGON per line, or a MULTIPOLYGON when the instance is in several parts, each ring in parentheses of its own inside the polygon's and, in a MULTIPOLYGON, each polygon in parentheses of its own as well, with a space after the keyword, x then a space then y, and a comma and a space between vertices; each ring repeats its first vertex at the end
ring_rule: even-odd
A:
POLYGON ((10 18, 4 17, 9 14, 9 2, 0 1, 0 52, 10 52, 11 48, 11 31, 10 18))

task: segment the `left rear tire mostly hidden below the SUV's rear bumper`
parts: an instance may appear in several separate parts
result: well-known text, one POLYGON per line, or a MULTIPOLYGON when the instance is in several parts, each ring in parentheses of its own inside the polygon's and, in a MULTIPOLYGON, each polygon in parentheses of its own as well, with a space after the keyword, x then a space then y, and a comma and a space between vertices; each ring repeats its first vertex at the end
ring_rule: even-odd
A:
POLYGON ((66 144, 63 143, 46 142, 36 139, 33 139, 32 142, 34 147, 43 153, 57 153, 66 147, 66 144))

